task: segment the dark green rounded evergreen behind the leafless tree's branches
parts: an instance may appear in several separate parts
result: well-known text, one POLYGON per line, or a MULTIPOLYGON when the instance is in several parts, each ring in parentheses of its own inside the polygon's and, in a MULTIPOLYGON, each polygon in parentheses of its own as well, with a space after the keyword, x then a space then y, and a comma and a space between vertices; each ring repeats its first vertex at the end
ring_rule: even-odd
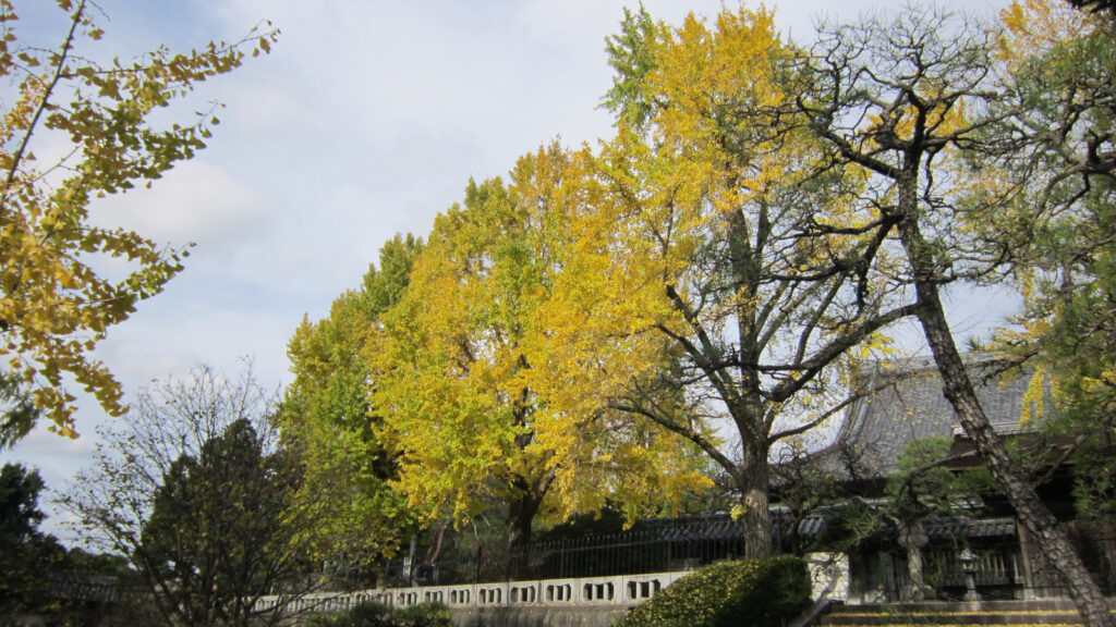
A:
POLYGON ((247 419, 182 455, 155 494, 137 554, 170 615, 240 625, 294 563, 283 518, 297 479, 282 453, 264 454, 247 419), (163 583, 155 583, 161 587, 163 583))

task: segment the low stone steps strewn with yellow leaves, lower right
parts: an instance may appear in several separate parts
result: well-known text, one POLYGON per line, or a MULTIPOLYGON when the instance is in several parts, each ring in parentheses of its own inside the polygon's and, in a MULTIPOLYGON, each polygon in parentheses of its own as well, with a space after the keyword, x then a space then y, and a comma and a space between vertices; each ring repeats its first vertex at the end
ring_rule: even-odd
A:
POLYGON ((1080 624, 1080 615, 1066 600, 836 605, 815 623, 826 627, 1080 624))

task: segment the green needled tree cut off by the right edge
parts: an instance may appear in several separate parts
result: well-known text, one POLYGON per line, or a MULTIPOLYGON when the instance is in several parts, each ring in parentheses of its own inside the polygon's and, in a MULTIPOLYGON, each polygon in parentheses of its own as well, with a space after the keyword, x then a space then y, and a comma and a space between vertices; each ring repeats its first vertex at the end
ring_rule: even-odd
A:
MULTIPOLYGON (((1099 6, 1099 3, 1097 3, 1099 6)), ((1022 331, 998 339, 1050 390, 1043 426, 1071 446, 1083 519, 1116 517, 1116 15, 1030 0, 1004 11, 1000 52, 1014 112, 997 132, 1023 149, 995 155, 1027 203, 998 229, 1030 232, 1022 331), (1021 225, 1021 226, 1017 226, 1021 225)))

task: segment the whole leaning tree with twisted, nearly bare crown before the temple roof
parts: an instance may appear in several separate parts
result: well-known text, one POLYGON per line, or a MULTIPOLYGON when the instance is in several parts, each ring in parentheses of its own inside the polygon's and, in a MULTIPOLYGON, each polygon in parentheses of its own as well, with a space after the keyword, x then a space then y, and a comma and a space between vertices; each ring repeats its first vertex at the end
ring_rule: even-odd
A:
MULTIPOLYGON (((906 298, 944 395, 992 478, 1086 621, 1114 625, 1065 530, 989 424, 942 306, 951 284, 1000 280, 1028 244, 1026 237, 1004 237, 1027 235, 1026 228, 988 229, 1030 200, 1018 186, 997 184, 1003 171, 979 165, 982 155, 1019 149, 1019 135, 988 131, 1026 110, 998 106, 1006 94, 991 71, 995 35, 934 10, 824 28, 798 73, 795 110, 809 118, 833 167, 866 181, 859 202, 875 215, 865 228, 894 247, 898 263, 884 270, 910 286, 906 298)), ((1040 212, 1013 215, 1042 220, 1040 212)))

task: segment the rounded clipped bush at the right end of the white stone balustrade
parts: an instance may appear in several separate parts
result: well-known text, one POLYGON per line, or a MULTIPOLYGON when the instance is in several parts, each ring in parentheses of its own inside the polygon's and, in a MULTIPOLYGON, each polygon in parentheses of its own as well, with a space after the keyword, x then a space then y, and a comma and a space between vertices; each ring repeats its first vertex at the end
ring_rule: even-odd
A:
POLYGON ((782 627, 810 602, 800 558, 719 562, 679 579, 617 627, 782 627))

